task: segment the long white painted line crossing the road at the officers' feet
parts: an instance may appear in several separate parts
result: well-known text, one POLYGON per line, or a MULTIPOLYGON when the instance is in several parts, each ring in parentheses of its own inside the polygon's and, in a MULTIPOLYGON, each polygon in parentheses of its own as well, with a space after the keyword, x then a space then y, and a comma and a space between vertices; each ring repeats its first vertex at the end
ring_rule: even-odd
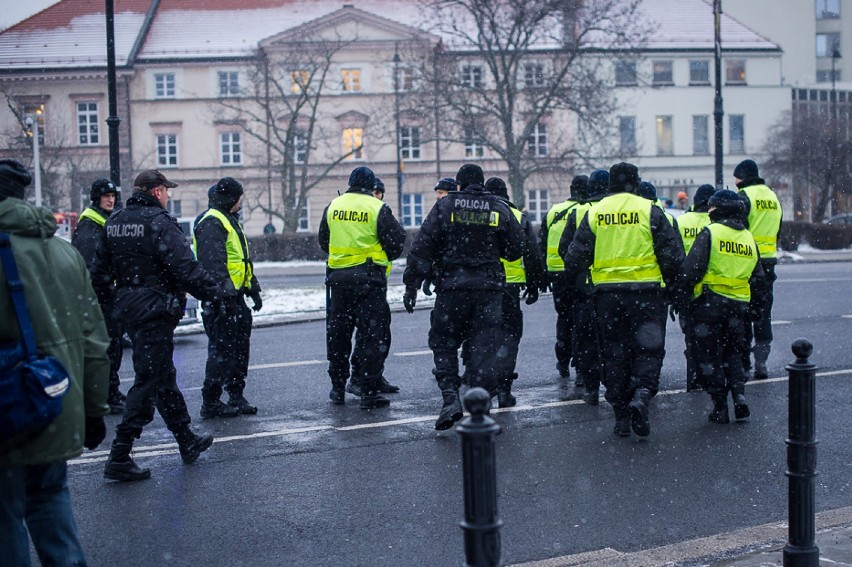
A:
MULTIPOLYGON (((817 372, 816 376, 840 376, 843 374, 852 374, 852 368, 844 368, 841 370, 829 370, 826 372, 817 372)), ((748 384, 750 386, 755 386, 759 384, 771 384, 774 382, 786 382, 788 380, 787 376, 778 376, 775 378, 767 378, 766 380, 758 380, 758 381, 749 381, 748 384)), ((183 390, 198 390, 200 388, 184 388, 183 390)), ((662 390, 657 395, 658 396, 672 396, 675 394, 684 394, 686 393, 685 388, 678 388, 674 390, 662 390)), ((531 411, 531 410, 539 410, 539 409, 550 409, 550 408, 560 408, 566 406, 574 406, 580 405, 583 403, 583 400, 559 400, 555 402, 544 402, 537 405, 517 405, 511 408, 493 408, 491 413, 512 413, 512 412, 522 412, 522 411, 531 411)), ((465 414, 468 415, 468 414, 465 414)), ((230 443, 232 441, 246 441, 250 439, 263 439, 266 437, 284 437, 287 435, 295 435, 298 433, 317 433, 321 431, 359 431, 364 429, 379 429, 382 427, 392 427, 394 425, 408 425, 411 423, 421 423, 426 421, 432 421, 435 419, 434 415, 423 415, 423 416, 415 416, 415 417, 406 417, 402 419, 392 419, 388 421, 378 421, 372 423, 360 423, 357 425, 344 425, 340 427, 336 427, 334 425, 311 425, 306 427, 297 427, 293 429, 278 429, 274 431, 260 431, 257 433, 247 433, 245 435, 231 435, 228 437, 218 437, 213 440, 214 443, 230 443)), ((159 455, 172 455, 177 454, 177 444, 176 443, 160 443, 157 445, 145 445, 141 447, 136 447, 133 451, 134 457, 155 457, 159 455)), ((103 462, 103 459, 109 455, 109 451, 92 451, 87 452, 76 459, 71 459, 68 461, 68 464, 71 465, 83 465, 83 464, 91 464, 97 462, 103 462)))

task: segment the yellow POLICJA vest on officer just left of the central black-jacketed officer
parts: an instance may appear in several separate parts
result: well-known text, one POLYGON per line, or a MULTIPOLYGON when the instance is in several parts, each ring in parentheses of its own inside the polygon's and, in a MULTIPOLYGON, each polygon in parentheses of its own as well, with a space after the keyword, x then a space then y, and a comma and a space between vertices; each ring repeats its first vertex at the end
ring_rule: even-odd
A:
POLYGON ((372 195, 344 193, 328 206, 328 267, 332 270, 352 268, 372 258, 374 264, 386 266, 390 274, 391 263, 379 243, 379 211, 384 203, 372 195))

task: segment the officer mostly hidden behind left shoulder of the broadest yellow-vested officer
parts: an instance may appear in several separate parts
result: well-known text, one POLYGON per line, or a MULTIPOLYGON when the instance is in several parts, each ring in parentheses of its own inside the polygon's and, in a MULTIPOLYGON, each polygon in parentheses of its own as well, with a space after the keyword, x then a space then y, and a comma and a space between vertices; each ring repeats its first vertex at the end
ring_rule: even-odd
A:
MULTIPOLYGON (((559 240, 560 258, 567 254, 580 221, 592 205, 606 195, 609 189, 609 172, 605 169, 593 171, 586 186, 579 189, 577 206, 568 214, 565 231, 559 240)), ((572 397, 582 397, 587 404, 596 406, 600 401, 601 360, 593 292, 592 277, 588 270, 583 270, 571 288, 574 296, 571 352, 574 354, 574 367, 577 370, 575 393, 572 397)))

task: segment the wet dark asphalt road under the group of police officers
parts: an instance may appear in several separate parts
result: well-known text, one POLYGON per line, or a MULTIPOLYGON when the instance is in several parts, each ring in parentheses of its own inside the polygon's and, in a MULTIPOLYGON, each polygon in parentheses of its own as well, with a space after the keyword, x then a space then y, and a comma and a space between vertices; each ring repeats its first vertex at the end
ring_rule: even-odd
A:
MULTIPOLYGON (((817 381, 817 509, 849 506, 852 263, 778 273, 770 376, 785 376, 795 338, 814 343, 812 360, 829 373, 817 381)), ((747 423, 708 423, 707 396, 682 391, 683 340, 670 322, 651 437, 615 438, 608 405, 565 401, 571 388, 554 369, 551 298, 525 314, 519 406, 495 413, 504 428, 497 451, 507 564, 647 549, 786 517, 786 381, 747 387, 747 423)), ((402 392, 370 412, 352 396, 345 407, 328 402, 323 322, 257 329, 246 394, 260 413, 212 421, 198 419, 206 338, 181 337, 175 363, 194 427, 217 442, 183 466, 157 417, 136 445, 151 480, 105 483, 107 443, 72 462, 90 563, 461 564, 460 439, 432 427, 440 403, 427 325, 426 310, 394 314, 386 376, 402 392)), ((108 418, 108 440, 117 421, 108 418)))

